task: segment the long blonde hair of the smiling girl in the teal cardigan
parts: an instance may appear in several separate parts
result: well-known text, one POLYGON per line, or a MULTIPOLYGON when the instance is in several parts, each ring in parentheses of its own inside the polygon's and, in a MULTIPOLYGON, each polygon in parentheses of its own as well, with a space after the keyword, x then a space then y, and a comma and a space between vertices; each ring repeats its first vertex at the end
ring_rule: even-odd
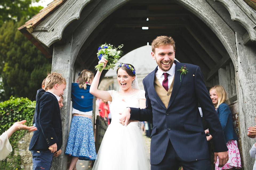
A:
POLYGON ((227 92, 224 87, 222 87, 221 85, 216 85, 216 86, 213 86, 212 88, 210 88, 209 92, 211 90, 215 90, 218 95, 218 103, 214 104, 215 108, 218 108, 219 105, 222 103, 226 103, 226 104, 230 105, 230 102, 227 99, 227 92))

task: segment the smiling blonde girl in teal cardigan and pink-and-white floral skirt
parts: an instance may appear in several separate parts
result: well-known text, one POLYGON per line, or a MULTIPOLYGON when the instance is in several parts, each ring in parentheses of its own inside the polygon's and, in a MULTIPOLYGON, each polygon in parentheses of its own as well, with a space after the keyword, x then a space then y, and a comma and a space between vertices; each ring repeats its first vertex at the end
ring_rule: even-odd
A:
MULTIPOLYGON (((226 140, 226 145, 229 149, 228 162, 222 168, 219 168, 219 158, 217 158, 217 162, 215 163, 215 170, 234 168, 239 169, 241 168, 241 157, 237 145, 238 138, 233 128, 231 111, 229 109, 229 105, 225 103, 227 101, 227 92, 221 85, 217 85, 210 88, 209 93, 219 116, 219 121, 221 122, 221 126, 226 140)), ((229 101, 227 102, 229 104, 229 101)))

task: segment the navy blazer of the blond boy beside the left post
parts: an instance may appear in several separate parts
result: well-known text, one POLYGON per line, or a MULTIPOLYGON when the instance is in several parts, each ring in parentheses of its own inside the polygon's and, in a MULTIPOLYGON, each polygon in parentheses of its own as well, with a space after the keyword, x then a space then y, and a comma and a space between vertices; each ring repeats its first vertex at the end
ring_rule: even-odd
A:
POLYGON ((36 106, 35 126, 29 150, 48 150, 49 146, 57 143, 57 151, 62 145, 62 125, 57 98, 50 92, 39 99, 36 106))

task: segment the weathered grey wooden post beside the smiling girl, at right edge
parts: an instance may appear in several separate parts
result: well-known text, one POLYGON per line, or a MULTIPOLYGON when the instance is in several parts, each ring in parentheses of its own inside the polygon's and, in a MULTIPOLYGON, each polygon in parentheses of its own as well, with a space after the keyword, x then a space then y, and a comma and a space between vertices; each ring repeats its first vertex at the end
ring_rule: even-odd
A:
POLYGON ((239 105, 240 137, 243 154, 243 168, 253 169, 254 160, 249 151, 255 139, 247 137, 247 128, 255 126, 256 116, 256 48, 243 45, 241 36, 236 32, 238 71, 236 72, 237 99, 239 105))

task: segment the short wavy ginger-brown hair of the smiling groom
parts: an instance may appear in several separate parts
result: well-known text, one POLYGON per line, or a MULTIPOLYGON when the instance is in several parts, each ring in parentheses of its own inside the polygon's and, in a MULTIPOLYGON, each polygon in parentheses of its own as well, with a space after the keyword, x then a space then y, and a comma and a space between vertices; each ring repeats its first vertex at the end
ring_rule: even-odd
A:
POLYGON ((158 36, 151 43, 152 52, 155 53, 155 48, 158 48, 162 45, 172 45, 175 50, 175 42, 172 37, 167 36, 158 36))

